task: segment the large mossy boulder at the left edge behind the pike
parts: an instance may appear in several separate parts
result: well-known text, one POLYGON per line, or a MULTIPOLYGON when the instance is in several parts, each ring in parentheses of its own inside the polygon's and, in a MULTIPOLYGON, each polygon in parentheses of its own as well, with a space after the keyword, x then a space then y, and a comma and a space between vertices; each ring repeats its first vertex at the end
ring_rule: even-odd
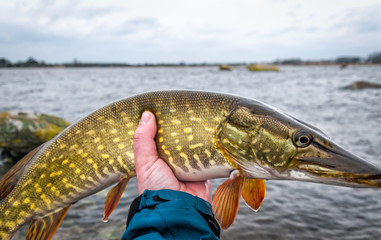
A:
POLYGON ((62 118, 42 113, 0 112, 1 154, 18 160, 69 125, 62 118))

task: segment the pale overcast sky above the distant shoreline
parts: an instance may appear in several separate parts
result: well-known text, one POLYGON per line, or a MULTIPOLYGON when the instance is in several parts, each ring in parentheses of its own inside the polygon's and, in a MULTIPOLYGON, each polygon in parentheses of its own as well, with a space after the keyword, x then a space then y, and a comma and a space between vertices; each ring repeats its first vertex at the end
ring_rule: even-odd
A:
POLYGON ((0 0, 0 58, 266 62, 381 52, 380 0, 0 0))

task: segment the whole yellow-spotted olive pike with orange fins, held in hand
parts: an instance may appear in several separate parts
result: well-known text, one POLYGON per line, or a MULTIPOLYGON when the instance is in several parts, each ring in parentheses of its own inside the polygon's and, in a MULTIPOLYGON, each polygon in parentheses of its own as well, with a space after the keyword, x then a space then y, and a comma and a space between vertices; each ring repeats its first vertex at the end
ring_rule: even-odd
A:
POLYGON ((104 221, 135 176, 133 135, 143 111, 156 116, 159 156, 182 181, 229 177, 213 209, 222 228, 241 196, 257 210, 264 179, 381 187, 381 170, 317 128, 259 101, 201 91, 130 97, 86 116, 35 149, 0 182, 0 239, 31 222, 27 239, 51 239, 71 204, 117 183, 104 221))

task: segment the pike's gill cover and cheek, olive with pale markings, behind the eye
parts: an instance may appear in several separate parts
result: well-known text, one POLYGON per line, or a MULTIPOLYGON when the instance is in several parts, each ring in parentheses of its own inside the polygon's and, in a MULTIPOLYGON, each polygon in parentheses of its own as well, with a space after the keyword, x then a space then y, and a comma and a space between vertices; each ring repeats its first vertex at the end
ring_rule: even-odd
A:
POLYGON ((221 123, 216 143, 245 176, 269 179, 272 173, 283 172, 297 154, 289 134, 289 128, 276 119, 240 107, 221 123))

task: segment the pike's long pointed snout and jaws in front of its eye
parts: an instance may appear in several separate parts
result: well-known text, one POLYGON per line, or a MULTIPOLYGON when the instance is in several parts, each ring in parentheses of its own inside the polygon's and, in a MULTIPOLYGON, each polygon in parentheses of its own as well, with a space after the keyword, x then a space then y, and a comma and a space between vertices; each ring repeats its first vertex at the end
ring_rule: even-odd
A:
POLYGON ((348 187, 381 187, 381 169, 336 144, 315 143, 318 157, 299 157, 290 169, 295 180, 348 187))

